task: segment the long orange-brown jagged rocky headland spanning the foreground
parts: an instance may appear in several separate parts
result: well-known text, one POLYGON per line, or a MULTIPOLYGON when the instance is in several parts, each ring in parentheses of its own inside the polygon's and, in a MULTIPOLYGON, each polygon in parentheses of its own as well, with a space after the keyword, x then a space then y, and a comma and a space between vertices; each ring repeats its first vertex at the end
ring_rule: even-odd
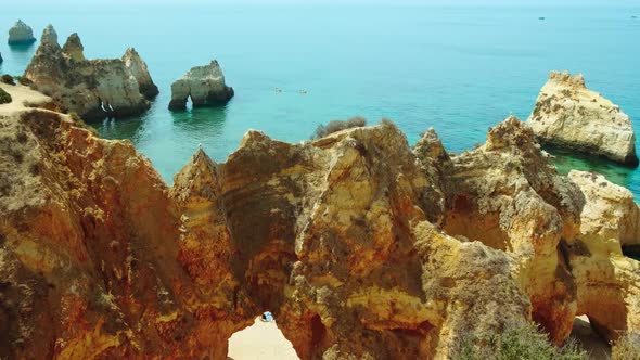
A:
POLYGON ((169 188, 129 141, 3 88, 43 101, 0 105, 2 358, 226 359, 265 310, 302 359, 447 359, 528 320, 561 344, 579 314, 640 331, 628 194, 560 176, 514 117, 460 155, 389 121, 251 130, 169 188))

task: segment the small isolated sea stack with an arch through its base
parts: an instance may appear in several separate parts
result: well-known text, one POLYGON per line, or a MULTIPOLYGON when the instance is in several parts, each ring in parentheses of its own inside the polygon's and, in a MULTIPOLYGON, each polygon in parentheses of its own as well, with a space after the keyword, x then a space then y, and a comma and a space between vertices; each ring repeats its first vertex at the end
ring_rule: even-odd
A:
POLYGON ((193 67, 176 80, 171 85, 169 108, 185 108, 189 98, 194 107, 221 105, 233 98, 233 88, 225 83, 225 75, 217 61, 212 61, 209 65, 193 67))

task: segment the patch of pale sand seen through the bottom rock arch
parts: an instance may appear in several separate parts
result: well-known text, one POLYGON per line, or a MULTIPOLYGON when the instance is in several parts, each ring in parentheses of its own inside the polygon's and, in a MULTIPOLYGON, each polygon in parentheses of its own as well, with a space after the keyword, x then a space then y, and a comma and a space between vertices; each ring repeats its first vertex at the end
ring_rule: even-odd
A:
POLYGON ((276 322, 263 322, 256 318, 253 325, 233 334, 229 339, 229 359, 293 360, 299 358, 276 322))

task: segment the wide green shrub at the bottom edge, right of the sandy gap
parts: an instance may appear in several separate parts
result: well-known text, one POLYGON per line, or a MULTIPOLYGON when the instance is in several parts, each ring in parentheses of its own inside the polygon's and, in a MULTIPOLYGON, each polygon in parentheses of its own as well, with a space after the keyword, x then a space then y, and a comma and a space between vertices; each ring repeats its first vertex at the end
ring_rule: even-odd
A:
POLYGON ((463 337, 453 349, 455 360, 587 360, 575 340, 555 347, 535 323, 507 324, 500 333, 463 337))

